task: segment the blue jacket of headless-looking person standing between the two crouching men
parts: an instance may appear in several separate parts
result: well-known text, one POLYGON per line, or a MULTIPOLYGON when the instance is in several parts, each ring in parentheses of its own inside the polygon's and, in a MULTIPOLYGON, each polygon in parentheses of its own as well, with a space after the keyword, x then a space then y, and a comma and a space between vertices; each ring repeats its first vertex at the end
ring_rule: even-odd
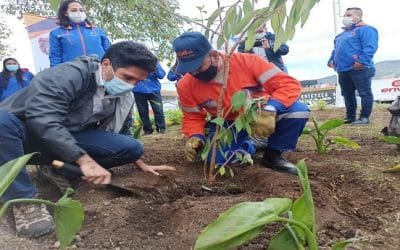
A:
POLYGON ((158 79, 163 79, 165 71, 160 63, 157 63, 157 68, 154 72, 150 73, 143 81, 139 81, 133 88, 133 93, 150 94, 160 92, 161 84, 158 79))

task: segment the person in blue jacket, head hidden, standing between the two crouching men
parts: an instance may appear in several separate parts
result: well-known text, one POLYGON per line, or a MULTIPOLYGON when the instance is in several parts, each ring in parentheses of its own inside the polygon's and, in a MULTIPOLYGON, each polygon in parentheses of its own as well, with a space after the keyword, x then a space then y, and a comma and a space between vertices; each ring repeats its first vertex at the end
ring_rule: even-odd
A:
POLYGON ((165 77, 165 71, 160 63, 157 63, 157 68, 154 72, 150 73, 148 77, 139 81, 133 94, 138 108, 140 119, 143 122, 143 131, 145 135, 153 133, 153 128, 149 118, 149 102, 154 113, 154 121, 158 133, 165 133, 166 124, 163 111, 162 97, 161 97, 161 84, 159 79, 165 77))

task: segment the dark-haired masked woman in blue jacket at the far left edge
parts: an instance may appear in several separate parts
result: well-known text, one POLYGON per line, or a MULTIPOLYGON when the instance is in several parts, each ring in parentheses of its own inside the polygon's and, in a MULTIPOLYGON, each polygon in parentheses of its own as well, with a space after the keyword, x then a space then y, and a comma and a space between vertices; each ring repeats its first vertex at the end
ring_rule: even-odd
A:
POLYGON ((27 87, 32 78, 33 74, 27 69, 21 69, 16 59, 4 59, 3 70, 0 73, 0 102, 27 87))

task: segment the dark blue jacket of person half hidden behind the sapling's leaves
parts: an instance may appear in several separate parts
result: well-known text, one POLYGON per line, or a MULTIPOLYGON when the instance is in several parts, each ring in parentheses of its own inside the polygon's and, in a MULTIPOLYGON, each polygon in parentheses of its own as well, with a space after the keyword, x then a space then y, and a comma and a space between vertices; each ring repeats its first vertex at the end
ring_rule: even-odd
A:
MULTIPOLYGON (((271 32, 266 32, 264 39, 266 39, 268 41, 269 46, 270 46, 269 49, 265 49, 265 54, 268 58, 268 61, 270 61, 273 64, 275 64, 276 66, 278 66, 282 71, 287 72, 285 63, 283 62, 283 59, 282 59, 282 56, 287 55, 289 53, 289 46, 287 46, 287 44, 283 43, 279 47, 279 49, 276 52, 274 52, 275 34, 273 34, 271 32)), ((262 47, 261 40, 256 41, 254 43, 253 47, 262 47)), ((252 53, 252 54, 254 53, 253 49, 251 49, 249 51, 245 50, 245 42, 244 41, 239 44, 238 51, 244 52, 244 53, 252 53)))

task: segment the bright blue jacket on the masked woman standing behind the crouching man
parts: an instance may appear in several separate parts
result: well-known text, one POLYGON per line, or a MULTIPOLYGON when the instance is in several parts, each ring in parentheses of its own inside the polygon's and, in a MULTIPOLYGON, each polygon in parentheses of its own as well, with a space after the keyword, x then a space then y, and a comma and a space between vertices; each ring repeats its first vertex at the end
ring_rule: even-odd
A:
POLYGON ((106 33, 86 22, 71 23, 50 32, 50 67, 71 61, 80 56, 101 59, 110 47, 106 33))

